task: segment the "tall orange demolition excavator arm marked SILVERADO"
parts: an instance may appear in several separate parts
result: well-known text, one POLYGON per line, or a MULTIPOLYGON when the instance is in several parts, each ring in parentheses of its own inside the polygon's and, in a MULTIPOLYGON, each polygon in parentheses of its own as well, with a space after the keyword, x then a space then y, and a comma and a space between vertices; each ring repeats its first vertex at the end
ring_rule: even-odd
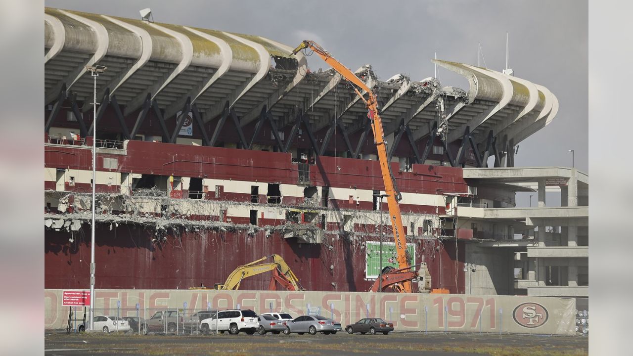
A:
MULTIPOLYGON (((398 201, 401 200, 401 194, 396 187, 396 179, 394 179, 391 174, 391 167, 389 165, 389 158, 387 156, 387 144, 384 139, 384 131, 382 129, 382 119, 379 115, 378 101, 376 99, 375 94, 373 94, 372 90, 363 83, 360 78, 356 77, 356 75, 349 70, 348 67, 342 65, 341 62, 335 60, 335 58, 325 51, 321 46, 316 44, 313 41, 303 41, 297 48, 292 51, 292 54, 297 54, 302 49, 311 49, 314 53, 318 54, 325 63, 328 63, 334 70, 341 73, 341 75, 353 83, 354 85, 360 87, 363 91, 367 92, 369 95, 368 99, 365 99, 363 94, 361 94, 356 87, 354 87, 354 91, 356 94, 360 96, 360 98, 365 102, 368 109, 368 117, 372 122, 372 131, 374 141, 376 143, 376 148, 378 151, 378 159, 380 162, 380 171, 382 172, 382 179, 385 183, 385 193, 387 193, 387 205, 389 206, 389 220, 391 220, 391 226, 394 234, 394 241, 396 242, 396 253, 398 259, 398 267, 399 269, 406 269, 408 267, 408 261, 406 259, 406 238, 404 235, 404 227, 402 226, 402 216, 400 213, 400 206, 398 201)), ((406 293, 411 293, 411 282, 405 281, 403 283, 403 291, 406 293)))

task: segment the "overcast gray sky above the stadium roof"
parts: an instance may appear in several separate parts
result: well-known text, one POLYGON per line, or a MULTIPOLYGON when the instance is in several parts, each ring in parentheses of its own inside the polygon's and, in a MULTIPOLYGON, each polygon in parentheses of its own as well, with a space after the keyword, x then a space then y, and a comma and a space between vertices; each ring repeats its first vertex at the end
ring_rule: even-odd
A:
MULTIPOLYGON (((289 46, 321 44, 349 68, 371 64, 380 79, 396 73, 421 80, 437 58, 477 65, 477 42, 488 68, 510 68, 558 98, 545 129, 520 143, 516 166, 571 166, 588 172, 586 1, 89 1, 50 0, 46 6, 268 37, 289 46)), ((326 69, 319 58, 308 65, 326 69)), ((482 61, 481 65, 484 65, 482 61)), ((463 77, 438 68, 443 86, 468 89, 463 77)))

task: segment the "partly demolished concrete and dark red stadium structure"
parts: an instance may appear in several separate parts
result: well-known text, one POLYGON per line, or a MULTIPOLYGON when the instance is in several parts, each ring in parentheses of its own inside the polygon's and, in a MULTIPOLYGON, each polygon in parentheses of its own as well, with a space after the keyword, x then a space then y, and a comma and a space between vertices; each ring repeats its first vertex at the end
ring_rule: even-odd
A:
MULTIPOLYGON (((279 254, 306 290, 367 291, 381 241, 397 265, 367 108, 325 63, 258 35, 54 8, 44 29, 45 288, 89 286, 93 145, 97 289, 213 286, 279 254)), ((514 167, 556 96, 436 63, 469 87, 356 71, 379 97, 410 263, 450 293, 587 297, 587 175, 514 167), (527 191, 535 206, 516 207, 527 191)))

